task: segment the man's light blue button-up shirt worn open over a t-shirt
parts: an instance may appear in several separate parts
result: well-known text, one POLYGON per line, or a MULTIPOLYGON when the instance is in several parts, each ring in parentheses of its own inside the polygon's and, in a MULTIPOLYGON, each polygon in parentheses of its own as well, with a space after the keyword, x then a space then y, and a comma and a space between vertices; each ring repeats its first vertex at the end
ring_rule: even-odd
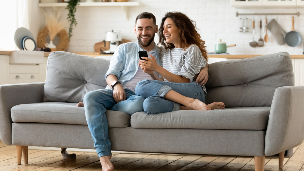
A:
MULTIPOLYGON (((107 76, 110 74, 116 75, 121 85, 123 85, 125 81, 132 79, 138 70, 138 51, 146 51, 140 46, 138 41, 119 45, 111 58, 105 79, 107 79, 107 76)), ((156 44, 151 54, 157 60, 157 64, 161 65, 160 48, 157 48, 156 44)), ((109 85, 107 85, 106 89, 110 89, 109 85)))

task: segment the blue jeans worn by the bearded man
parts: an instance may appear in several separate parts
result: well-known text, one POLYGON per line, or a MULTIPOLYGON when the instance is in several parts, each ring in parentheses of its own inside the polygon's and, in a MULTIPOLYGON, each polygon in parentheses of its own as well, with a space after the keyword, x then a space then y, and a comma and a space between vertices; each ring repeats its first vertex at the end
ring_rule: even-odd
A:
POLYGON ((85 94, 83 98, 85 118, 99 157, 112 154, 105 110, 117 110, 130 115, 143 111, 144 98, 135 96, 135 93, 128 89, 125 89, 125 92, 126 100, 119 103, 113 99, 113 90, 110 89, 94 90, 85 94))

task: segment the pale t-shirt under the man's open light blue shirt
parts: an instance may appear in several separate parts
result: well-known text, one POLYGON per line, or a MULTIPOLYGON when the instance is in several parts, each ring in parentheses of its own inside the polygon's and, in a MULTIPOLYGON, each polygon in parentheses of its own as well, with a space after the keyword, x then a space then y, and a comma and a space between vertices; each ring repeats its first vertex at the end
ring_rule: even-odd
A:
MULTIPOLYGON (((152 51, 149 51, 147 53, 148 53, 148 57, 151 58, 150 54, 152 54, 152 51)), ((123 88, 129 89, 129 90, 135 92, 135 87, 136 87, 137 82, 142 81, 144 79, 153 80, 149 74, 143 72, 143 70, 140 67, 138 67, 138 70, 137 70, 136 74, 134 75, 134 77, 131 80, 125 81, 123 83, 123 88)))

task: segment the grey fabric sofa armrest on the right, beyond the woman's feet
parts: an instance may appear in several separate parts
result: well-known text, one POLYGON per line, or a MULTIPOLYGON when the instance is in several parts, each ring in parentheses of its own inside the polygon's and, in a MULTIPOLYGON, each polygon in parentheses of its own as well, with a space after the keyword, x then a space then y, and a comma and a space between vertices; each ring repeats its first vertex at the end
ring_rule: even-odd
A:
POLYGON ((275 89, 265 138, 265 155, 300 145, 304 139, 304 86, 275 89))

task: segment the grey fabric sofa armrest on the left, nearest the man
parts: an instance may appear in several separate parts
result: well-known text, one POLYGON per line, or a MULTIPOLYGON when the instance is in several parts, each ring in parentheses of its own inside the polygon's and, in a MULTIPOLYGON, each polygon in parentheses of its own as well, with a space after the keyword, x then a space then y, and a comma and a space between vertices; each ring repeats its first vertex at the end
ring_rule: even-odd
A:
POLYGON ((19 104, 43 102, 44 82, 0 85, 0 139, 12 144, 11 108, 19 104))

